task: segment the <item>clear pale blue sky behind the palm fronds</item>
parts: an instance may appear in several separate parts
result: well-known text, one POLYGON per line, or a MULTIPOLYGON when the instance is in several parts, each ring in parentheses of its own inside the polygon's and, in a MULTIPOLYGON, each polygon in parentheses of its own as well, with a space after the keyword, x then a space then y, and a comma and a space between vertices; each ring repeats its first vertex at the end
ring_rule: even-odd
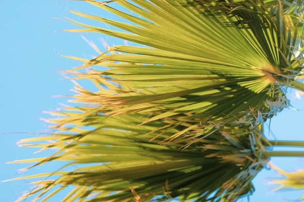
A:
MULTIPOLYGON (((59 71, 80 65, 57 54, 72 55, 91 59, 97 53, 84 38, 94 41, 102 49, 103 41, 109 46, 124 43, 95 33, 62 32, 77 28, 53 17, 72 17, 67 10, 78 9, 94 15, 111 17, 110 14, 80 1, 15 0, 3 1, 0 6, 0 181, 52 171, 58 164, 37 167, 30 171, 18 172, 27 164, 5 164, 6 162, 50 155, 51 151, 33 154, 37 149, 17 147, 16 142, 34 137, 47 129, 48 124, 41 118, 50 118, 43 111, 53 111, 60 104, 67 104, 68 98, 54 95, 71 95, 73 83, 59 71)), ((105 25, 103 25, 105 26, 105 25)), ((304 141, 304 97, 297 98, 296 92, 288 95, 295 109, 285 109, 271 120, 269 139, 304 141), (273 134, 273 135, 271 135, 273 134)), ((272 163, 286 171, 304 169, 303 158, 272 158, 272 163)), ((220 177, 220 176, 219 176, 220 177)), ((254 179, 256 188, 251 202, 290 202, 300 198, 304 190, 272 192, 276 186, 267 185, 274 171, 263 170, 254 179)), ((0 182, 1 202, 13 202, 23 191, 30 188, 30 181, 0 182)), ((28 200, 27 200, 28 201, 28 200)), ((52 199, 51 202, 58 202, 52 199)), ((246 202, 241 199, 238 202, 246 202)))

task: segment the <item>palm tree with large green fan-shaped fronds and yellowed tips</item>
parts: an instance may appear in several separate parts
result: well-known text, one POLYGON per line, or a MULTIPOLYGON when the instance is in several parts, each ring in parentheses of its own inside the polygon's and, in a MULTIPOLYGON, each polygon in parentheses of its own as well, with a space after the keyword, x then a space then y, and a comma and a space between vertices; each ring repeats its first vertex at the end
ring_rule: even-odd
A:
POLYGON ((18 178, 55 176, 34 182, 19 200, 36 193, 35 199, 47 200, 74 186, 63 201, 234 202, 253 192, 251 180, 270 156, 304 155, 270 151, 299 143, 267 140, 262 128, 289 106, 286 88, 304 91, 297 80, 301 1, 83 1, 130 23, 71 11, 122 31, 67 19, 84 27, 68 31, 100 32, 140 46, 110 47, 93 60, 68 57, 84 62, 68 73, 77 76, 73 101, 85 105, 50 112, 64 116, 49 120, 54 132, 19 142, 57 152, 15 162, 36 162, 29 168, 69 162, 18 178), (131 13, 111 7, 115 3, 131 13), (86 73, 78 71, 83 68, 86 73), (99 91, 82 88, 77 79, 89 79, 99 91))

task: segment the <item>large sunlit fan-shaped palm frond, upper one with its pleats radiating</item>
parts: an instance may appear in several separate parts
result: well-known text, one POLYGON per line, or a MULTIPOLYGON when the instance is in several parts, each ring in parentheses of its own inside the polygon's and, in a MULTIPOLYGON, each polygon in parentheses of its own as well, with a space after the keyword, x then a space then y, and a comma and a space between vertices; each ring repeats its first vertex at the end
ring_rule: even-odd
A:
MULTIPOLYGON (((108 115, 153 111, 142 124, 165 118, 174 120, 174 125, 188 122, 211 128, 211 124, 252 119, 258 113, 264 120, 272 117, 288 106, 283 102, 273 111, 265 104, 284 100, 281 85, 304 90, 294 79, 303 63, 302 54, 295 56, 299 35, 285 24, 281 4, 273 7, 273 16, 259 1, 236 2, 242 7, 226 10, 205 4, 190 6, 186 0, 111 2, 138 17, 108 6, 110 3, 84 1, 132 23, 71 11, 125 32, 74 20, 69 21, 86 29, 69 31, 100 32, 144 46, 112 47, 89 61, 73 58, 84 61, 77 69, 108 67, 98 71, 96 66, 97 70, 80 78, 111 90, 79 95, 76 100, 98 105, 108 115)), ((167 142, 176 142, 185 133, 175 134, 167 142)))

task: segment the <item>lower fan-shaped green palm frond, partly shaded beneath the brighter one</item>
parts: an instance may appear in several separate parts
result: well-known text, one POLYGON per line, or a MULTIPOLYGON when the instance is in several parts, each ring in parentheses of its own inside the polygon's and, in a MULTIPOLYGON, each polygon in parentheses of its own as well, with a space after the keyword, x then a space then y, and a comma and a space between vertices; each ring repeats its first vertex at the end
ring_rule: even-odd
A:
MULTIPOLYGON (((34 200, 44 201, 74 186, 64 202, 76 198, 78 202, 148 202, 160 195, 161 201, 179 197, 184 202, 193 199, 233 202, 253 192, 251 180, 268 161, 261 154, 270 144, 262 136, 261 128, 253 128, 251 124, 243 124, 246 135, 234 135, 239 126, 231 125, 226 131, 217 131, 181 150, 182 143, 162 146, 158 139, 149 142, 144 134, 161 123, 138 126, 138 122, 146 119, 145 114, 107 117, 85 107, 66 110, 55 113, 66 118, 51 122, 72 126, 57 126, 58 131, 48 136, 19 142, 22 146, 53 148, 57 152, 47 158, 15 163, 38 162, 34 165, 38 166, 51 161, 69 162, 53 173, 17 178, 56 177, 34 182, 34 189, 19 201, 32 194, 38 194, 34 200), (86 125, 94 129, 82 128, 86 125), (94 198, 86 199, 90 196, 94 198)), ((176 132, 178 129, 171 129, 164 135, 176 132)))

